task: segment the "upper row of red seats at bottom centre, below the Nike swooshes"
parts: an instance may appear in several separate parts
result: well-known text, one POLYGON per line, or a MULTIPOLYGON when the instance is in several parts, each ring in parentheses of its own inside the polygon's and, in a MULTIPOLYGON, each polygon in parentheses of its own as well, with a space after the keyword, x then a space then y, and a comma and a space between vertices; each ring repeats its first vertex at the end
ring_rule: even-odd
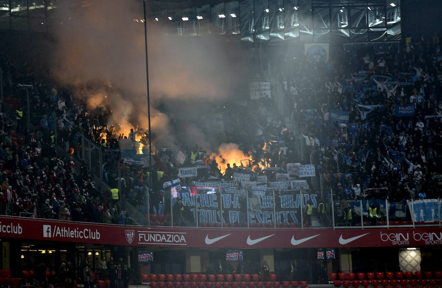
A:
MULTIPOLYGON (((260 281, 259 274, 141 274, 142 282, 249 282, 260 281)), ((276 281, 276 274, 269 274, 270 281, 276 281)))

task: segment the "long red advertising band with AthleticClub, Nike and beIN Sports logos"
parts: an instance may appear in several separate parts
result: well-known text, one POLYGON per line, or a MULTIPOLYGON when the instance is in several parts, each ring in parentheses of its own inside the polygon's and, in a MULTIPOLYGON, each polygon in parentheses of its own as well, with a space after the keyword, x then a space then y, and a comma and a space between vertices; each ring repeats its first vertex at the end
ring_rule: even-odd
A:
POLYGON ((315 248, 442 245, 442 228, 220 229, 102 225, 0 217, 0 237, 122 246, 315 248))

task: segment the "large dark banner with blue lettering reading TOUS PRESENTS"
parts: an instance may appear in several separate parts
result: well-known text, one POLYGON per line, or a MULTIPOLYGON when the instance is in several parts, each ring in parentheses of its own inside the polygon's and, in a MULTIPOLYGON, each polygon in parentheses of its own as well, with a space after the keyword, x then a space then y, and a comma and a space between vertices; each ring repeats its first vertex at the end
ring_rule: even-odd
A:
MULTIPOLYGON (((254 186, 252 191, 233 190, 222 193, 218 190, 185 187, 176 195, 183 200, 185 208, 183 216, 190 223, 239 223, 241 217, 247 218, 250 224, 254 223, 299 223, 301 212, 307 201, 311 200, 313 208, 317 208, 317 194, 294 194, 293 192, 273 191, 271 187, 254 186), (274 196, 275 207, 274 207, 274 196), (195 206, 195 200, 196 205, 195 206), (247 201, 248 200, 248 201, 247 201), (241 204, 249 206, 241 207, 241 204), (274 215, 274 209, 276 214, 274 215), (221 212, 222 211, 222 212, 221 212), (243 214, 242 214, 243 213, 243 214)), ((244 205, 244 206, 246 206, 244 205)), ((245 220, 245 219, 244 219, 245 220)))

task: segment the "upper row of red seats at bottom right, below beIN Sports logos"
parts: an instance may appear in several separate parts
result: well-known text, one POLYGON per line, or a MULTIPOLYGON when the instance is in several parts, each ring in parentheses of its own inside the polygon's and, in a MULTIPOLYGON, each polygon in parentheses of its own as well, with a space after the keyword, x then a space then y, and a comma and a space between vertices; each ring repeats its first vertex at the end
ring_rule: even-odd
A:
POLYGON ((359 280, 364 280, 364 279, 368 279, 368 280, 373 280, 375 279, 375 275, 376 275, 376 279, 378 280, 382 280, 384 278, 387 278, 389 280, 391 279, 403 279, 405 276, 405 279, 422 279, 422 278, 426 278, 426 279, 432 279, 432 278, 437 278, 437 279, 441 279, 442 278, 442 271, 436 271, 433 272, 432 271, 416 271, 414 274, 413 272, 367 272, 367 273, 363 273, 363 272, 359 272, 359 273, 330 273, 329 277, 331 281, 337 280, 339 277, 339 280, 355 280, 356 276, 358 276, 357 279, 359 280), (365 275, 366 274, 366 275, 365 275), (366 276, 366 278, 365 278, 366 276), (433 277, 434 276, 434 277, 433 277))

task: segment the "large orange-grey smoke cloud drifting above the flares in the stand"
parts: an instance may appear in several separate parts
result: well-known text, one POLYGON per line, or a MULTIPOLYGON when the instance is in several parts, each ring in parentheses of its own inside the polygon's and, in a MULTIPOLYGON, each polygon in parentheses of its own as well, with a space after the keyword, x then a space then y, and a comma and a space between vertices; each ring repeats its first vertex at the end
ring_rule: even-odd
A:
MULTIPOLYGON (((137 125, 147 130, 142 3, 97 0, 81 9, 55 10, 60 28, 53 75, 65 85, 82 87, 76 94, 89 109, 109 107, 112 115, 107 124, 114 124, 120 133, 127 134, 137 125), (105 85, 85 89, 90 83, 105 85)), ((161 23, 148 21, 151 126, 157 147, 174 146, 176 135, 189 145, 218 147, 216 135, 208 133, 207 123, 201 124, 197 116, 236 96, 242 76, 247 78, 243 67, 248 58, 223 40, 167 35, 161 23), (186 113, 174 110, 170 103, 175 101, 186 113), (178 129, 183 128, 182 121, 188 130, 178 129)))

